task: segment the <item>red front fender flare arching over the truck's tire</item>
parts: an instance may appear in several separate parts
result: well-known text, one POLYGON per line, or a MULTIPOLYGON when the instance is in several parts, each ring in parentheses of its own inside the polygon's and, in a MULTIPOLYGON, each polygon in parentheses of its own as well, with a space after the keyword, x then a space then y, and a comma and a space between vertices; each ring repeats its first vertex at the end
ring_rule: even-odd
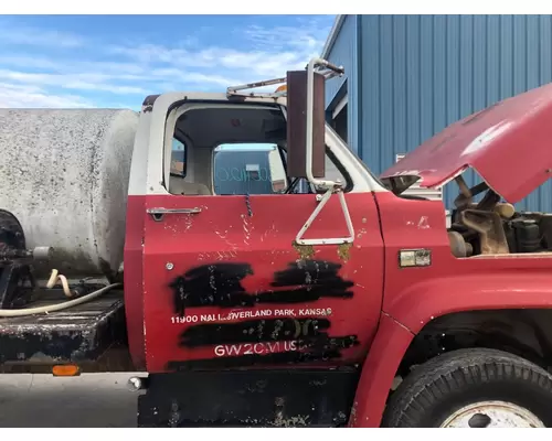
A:
POLYGON ((414 336, 432 320, 455 312, 551 306, 552 277, 529 271, 434 278, 385 299, 385 311, 362 367, 349 427, 380 426, 401 361, 414 336))

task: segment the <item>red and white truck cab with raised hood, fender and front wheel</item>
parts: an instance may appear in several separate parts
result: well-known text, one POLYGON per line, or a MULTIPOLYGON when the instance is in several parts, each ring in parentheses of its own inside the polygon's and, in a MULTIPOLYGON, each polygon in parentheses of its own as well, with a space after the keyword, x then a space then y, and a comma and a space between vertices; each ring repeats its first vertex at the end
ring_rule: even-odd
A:
MULTIPOLYGON (((552 216, 512 205, 552 170, 552 88, 374 176, 325 122, 323 83, 341 73, 314 60, 276 94, 244 90, 278 80, 144 101, 112 280, 148 374, 130 380, 138 424, 552 426, 552 216), (266 194, 217 194, 216 149, 259 144, 266 194), (450 226, 442 201, 406 192, 453 181, 450 226)), ((102 326, 95 347, 115 335, 102 326)))

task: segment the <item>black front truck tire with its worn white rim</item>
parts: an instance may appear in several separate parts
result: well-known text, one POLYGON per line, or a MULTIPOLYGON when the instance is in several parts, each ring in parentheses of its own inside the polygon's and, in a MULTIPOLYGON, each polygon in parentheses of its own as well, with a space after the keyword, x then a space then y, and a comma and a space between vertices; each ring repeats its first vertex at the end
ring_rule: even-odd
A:
POLYGON ((552 427, 552 375, 496 349, 459 349, 416 367, 392 395, 383 427, 552 427))

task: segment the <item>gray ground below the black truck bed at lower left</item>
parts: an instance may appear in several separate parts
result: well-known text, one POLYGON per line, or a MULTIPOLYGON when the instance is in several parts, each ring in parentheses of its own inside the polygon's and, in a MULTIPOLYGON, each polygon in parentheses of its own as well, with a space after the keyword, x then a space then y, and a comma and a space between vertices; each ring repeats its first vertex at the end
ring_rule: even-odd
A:
POLYGON ((0 375, 0 428, 136 427, 136 392, 126 388, 131 373, 0 375))

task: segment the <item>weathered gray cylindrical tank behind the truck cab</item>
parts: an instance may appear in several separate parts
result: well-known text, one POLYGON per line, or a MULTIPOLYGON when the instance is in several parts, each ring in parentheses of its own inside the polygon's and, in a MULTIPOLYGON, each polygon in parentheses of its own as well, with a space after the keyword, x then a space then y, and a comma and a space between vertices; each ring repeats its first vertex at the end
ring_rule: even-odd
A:
POLYGON ((36 267, 67 277, 113 276, 123 261, 138 114, 114 109, 0 109, 0 208, 26 248, 54 248, 36 267))

